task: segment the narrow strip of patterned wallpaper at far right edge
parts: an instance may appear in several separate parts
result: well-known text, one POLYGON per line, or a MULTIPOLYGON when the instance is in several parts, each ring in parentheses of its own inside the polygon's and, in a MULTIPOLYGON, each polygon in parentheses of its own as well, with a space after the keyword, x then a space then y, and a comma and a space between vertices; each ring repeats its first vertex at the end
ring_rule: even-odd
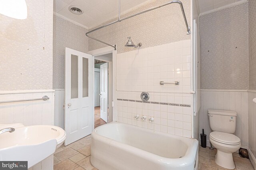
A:
POLYGON ((256 0, 249 0, 249 85, 256 90, 256 0))

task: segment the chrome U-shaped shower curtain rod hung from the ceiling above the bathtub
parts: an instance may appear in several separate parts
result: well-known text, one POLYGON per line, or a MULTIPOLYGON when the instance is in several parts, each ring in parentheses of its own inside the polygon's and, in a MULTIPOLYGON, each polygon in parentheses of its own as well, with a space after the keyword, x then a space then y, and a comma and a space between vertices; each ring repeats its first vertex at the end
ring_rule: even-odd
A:
POLYGON ((98 28, 96 28, 96 29, 93 29, 93 30, 87 32, 85 35, 86 35, 87 37, 91 38, 91 39, 94 39, 94 40, 99 41, 99 42, 101 42, 101 43, 104 43, 104 44, 106 44, 106 45, 108 45, 108 46, 110 46, 110 47, 113 47, 113 48, 116 50, 116 45, 110 45, 110 44, 108 44, 108 43, 106 43, 106 42, 104 42, 104 41, 101 41, 101 40, 99 40, 99 39, 96 39, 96 38, 94 38, 94 37, 91 37, 91 36, 88 35, 88 34, 94 32, 94 31, 97 31, 97 30, 99 30, 99 29, 102 29, 102 28, 104 28, 104 27, 107 27, 107 26, 109 26, 109 25, 112 25, 112 24, 114 24, 114 23, 117 23, 117 22, 126 20, 126 19, 128 19, 128 18, 132 18, 132 17, 134 17, 134 16, 143 14, 143 13, 145 13, 145 12, 149 12, 149 11, 155 10, 155 9, 157 9, 157 8, 160 8, 160 7, 162 7, 162 6, 166 6, 166 5, 174 4, 174 3, 180 4, 180 9, 181 9, 181 11, 182 11, 182 15, 183 15, 183 18, 184 18, 184 21, 185 21, 185 24, 186 24, 186 28, 187 28, 187 35, 190 35, 190 27, 188 26, 188 22, 187 22, 187 19, 186 19, 186 15, 185 15, 185 12, 184 12, 184 8, 183 8, 183 5, 182 5, 182 2, 180 2, 179 0, 173 0, 173 1, 167 2, 167 3, 162 4, 162 5, 158 5, 158 6, 152 7, 152 8, 149 8, 149 9, 147 9, 147 10, 144 10, 144 11, 142 11, 142 12, 138 12, 138 13, 136 13, 136 14, 133 14, 133 15, 131 15, 131 16, 128 16, 128 17, 122 18, 122 19, 120 19, 120 2, 119 2, 119 17, 118 17, 118 20, 117 20, 117 21, 114 21, 114 22, 108 23, 108 24, 106 24, 106 25, 103 25, 103 26, 101 26, 101 27, 98 27, 98 28))

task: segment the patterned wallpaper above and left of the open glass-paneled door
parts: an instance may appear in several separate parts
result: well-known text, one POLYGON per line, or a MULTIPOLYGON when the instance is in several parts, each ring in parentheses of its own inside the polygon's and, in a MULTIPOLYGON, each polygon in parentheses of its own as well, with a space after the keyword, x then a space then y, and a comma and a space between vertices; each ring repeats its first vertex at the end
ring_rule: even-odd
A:
POLYGON ((86 53, 88 51, 87 29, 53 16, 53 88, 64 88, 65 48, 86 53))

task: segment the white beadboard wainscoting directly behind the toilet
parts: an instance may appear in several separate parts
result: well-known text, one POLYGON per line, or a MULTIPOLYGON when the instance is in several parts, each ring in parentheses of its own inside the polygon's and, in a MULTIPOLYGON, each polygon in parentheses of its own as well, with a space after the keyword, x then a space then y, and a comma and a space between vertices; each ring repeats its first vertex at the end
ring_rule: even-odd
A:
POLYGON ((224 109, 237 112, 236 133, 242 147, 248 147, 248 92, 246 90, 202 90, 199 129, 206 133, 207 146, 210 147, 208 109, 224 109))

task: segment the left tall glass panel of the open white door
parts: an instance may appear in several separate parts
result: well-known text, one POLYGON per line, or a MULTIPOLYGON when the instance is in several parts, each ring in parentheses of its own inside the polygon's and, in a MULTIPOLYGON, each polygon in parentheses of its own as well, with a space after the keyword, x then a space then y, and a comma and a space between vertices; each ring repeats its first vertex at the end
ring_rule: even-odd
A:
POLYGON ((71 98, 78 98, 78 56, 71 55, 71 98))

